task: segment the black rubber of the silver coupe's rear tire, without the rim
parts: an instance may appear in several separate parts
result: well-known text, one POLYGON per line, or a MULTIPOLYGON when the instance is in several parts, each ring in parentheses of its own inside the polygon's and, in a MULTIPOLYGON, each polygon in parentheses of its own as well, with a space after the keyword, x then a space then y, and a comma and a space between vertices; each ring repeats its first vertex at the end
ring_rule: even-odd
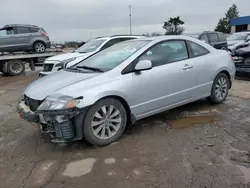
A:
POLYGON ((214 79, 214 82, 213 82, 213 86, 212 86, 212 90, 211 90, 211 96, 210 96, 211 102, 214 103, 214 104, 220 104, 220 103, 222 103, 223 101, 225 101, 225 99, 226 99, 227 96, 228 96, 229 85, 230 85, 230 81, 229 81, 228 76, 227 76, 225 73, 220 73, 220 74, 218 74, 218 75, 216 76, 216 78, 214 79), (225 97, 224 97, 223 99, 219 100, 219 99, 216 97, 216 95, 215 95, 215 86, 216 86, 216 84, 217 84, 218 79, 221 78, 221 77, 225 78, 226 81, 227 81, 227 93, 226 93, 226 95, 225 95, 225 97))

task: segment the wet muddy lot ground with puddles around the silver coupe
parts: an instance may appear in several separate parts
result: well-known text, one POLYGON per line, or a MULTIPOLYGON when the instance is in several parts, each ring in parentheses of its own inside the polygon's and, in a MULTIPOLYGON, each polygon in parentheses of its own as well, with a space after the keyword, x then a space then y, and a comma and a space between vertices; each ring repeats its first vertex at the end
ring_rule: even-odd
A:
POLYGON ((17 101, 37 77, 0 77, 1 188, 250 186, 250 82, 235 81, 224 104, 201 100, 144 119, 95 148, 51 143, 18 117, 17 101))

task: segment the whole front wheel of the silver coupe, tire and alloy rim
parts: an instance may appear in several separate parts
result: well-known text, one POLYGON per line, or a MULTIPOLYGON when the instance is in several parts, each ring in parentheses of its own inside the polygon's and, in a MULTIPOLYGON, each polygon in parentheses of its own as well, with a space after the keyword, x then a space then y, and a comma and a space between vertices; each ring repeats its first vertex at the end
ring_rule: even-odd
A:
POLYGON ((105 146, 118 140, 126 125, 127 112, 122 103, 114 98, 102 99, 86 113, 83 120, 83 136, 91 145, 105 146))

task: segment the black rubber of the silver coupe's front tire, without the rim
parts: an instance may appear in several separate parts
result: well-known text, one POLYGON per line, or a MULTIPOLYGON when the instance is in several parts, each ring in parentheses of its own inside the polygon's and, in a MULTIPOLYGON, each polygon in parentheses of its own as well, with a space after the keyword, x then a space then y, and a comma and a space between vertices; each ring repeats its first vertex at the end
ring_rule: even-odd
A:
POLYGON ((119 100, 114 99, 114 98, 102 99, 96 102, 92 107, 90 107, 90 109, 88 109, 85 115, 85 118, 83 120, 83 137, 91 145, 105 146, 105 145, 111 144, 112 142, 117 141, 122 136, 126 128, 126 125, 127 125, 127 112, 123 104, 119 100), (92 122, 95 112, 104 105, 113 105, 117 109, 119 109, 121 112, 121 119, 122 119, 122 123, 118 132, 113 137, 107 140, 102 140, 102 139, 97 138, 93 134, 92 129, 91 129, 91 122, 92 122))

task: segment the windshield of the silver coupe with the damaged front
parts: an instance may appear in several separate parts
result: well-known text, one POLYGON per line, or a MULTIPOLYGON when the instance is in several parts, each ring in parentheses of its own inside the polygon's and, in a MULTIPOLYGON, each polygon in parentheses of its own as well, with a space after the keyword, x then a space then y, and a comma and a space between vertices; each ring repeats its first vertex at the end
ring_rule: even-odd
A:
POLYGON ((108 71, 120 65, 124 60, 146 45, 149 40, 126 41, 115 44, 85 60, 74 67, 84 66, 108 71))

